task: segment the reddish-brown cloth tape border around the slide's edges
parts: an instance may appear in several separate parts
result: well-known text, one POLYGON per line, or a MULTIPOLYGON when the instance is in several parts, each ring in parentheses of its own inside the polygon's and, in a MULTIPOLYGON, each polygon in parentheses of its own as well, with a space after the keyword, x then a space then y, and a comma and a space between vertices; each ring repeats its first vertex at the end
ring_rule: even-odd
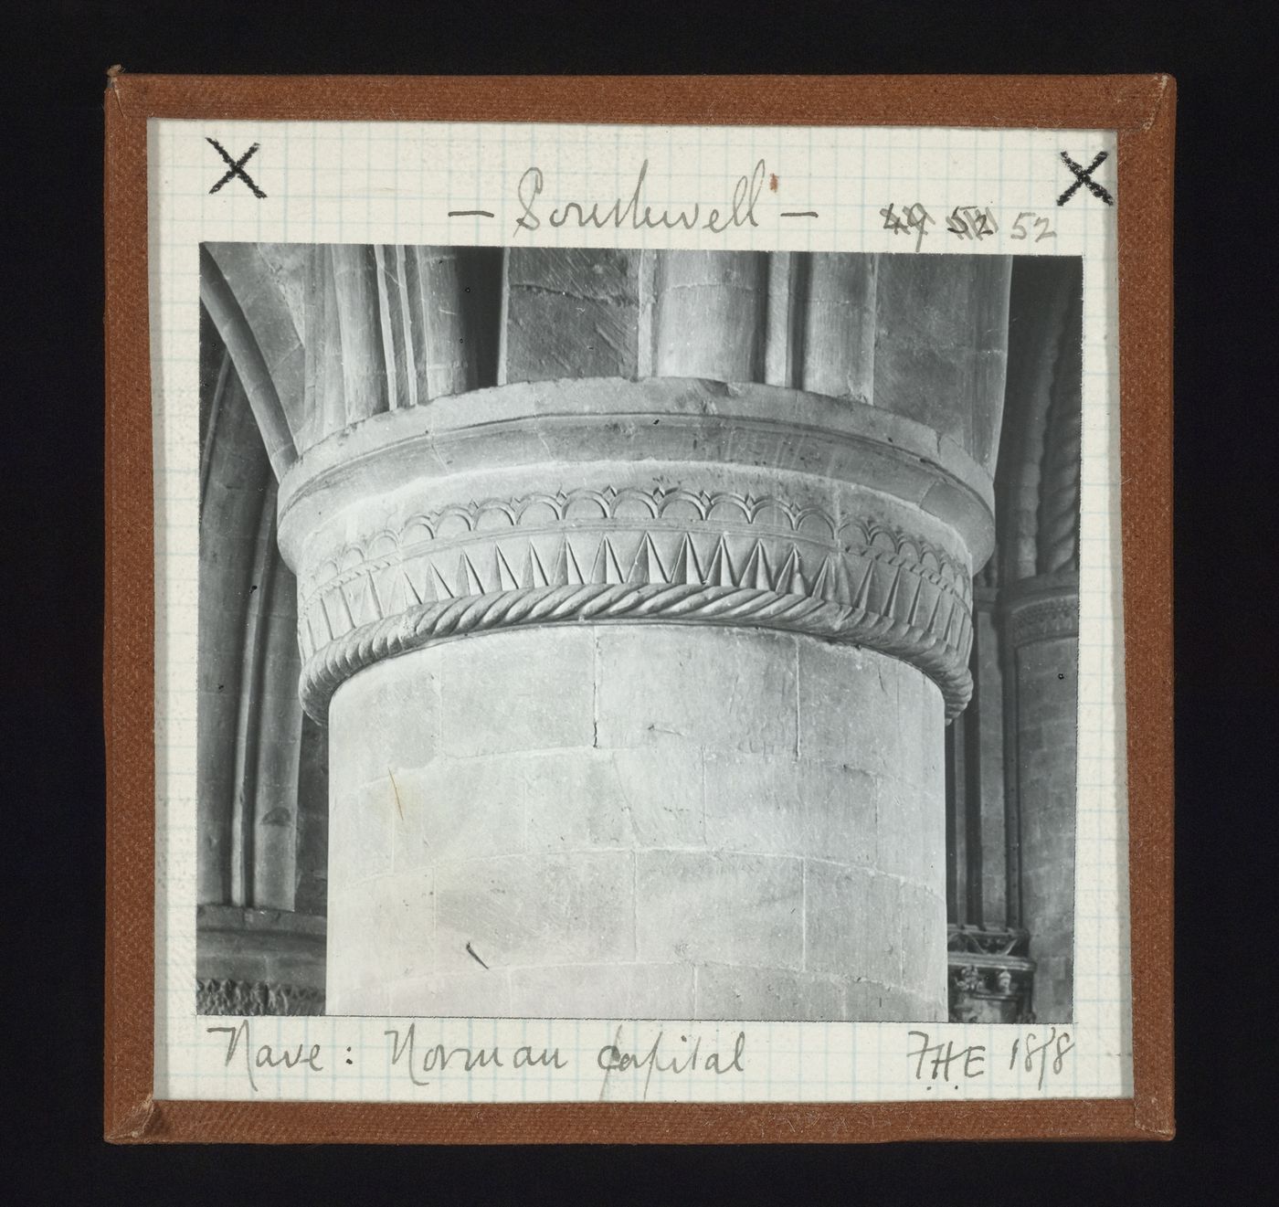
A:
POLYGON ((118 1142, 812 1143, 1173 1134, 1172 229, 1166 75, 196 77, 106 90, 105 1135, 118 1142), (1118 130, 1131 1100, 155 1101, 155 546, 147 119, 1118 130))

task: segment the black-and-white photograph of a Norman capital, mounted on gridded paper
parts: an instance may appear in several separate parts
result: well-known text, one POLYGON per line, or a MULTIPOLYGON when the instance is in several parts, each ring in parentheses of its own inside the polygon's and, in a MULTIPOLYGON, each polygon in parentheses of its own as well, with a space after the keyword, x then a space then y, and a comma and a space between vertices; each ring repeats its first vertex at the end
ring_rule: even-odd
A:
POLYGON ((1069 1023, 1082 281, 201 244, 198 1013, 1069 1023))

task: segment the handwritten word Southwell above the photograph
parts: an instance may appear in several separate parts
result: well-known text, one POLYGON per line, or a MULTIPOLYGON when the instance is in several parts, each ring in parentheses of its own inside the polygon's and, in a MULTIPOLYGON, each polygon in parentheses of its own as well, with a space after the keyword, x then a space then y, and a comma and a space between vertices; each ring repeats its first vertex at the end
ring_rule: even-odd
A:
POLYGON ((712 234, 721 234, 733 226, 760 225, 755 217, 755 203, 764 191, 764 183, 769 179, 764 160, 760 160, 748 175, 738 176, 737 184, 733 187, 732 201, 710 207, 703 207, 700 201, 694 201, 692 205, 668 206, 655 211, 652 206, 643 203, 645 178, 647 175, 648 161, 645 160, 640 165, 634 189, 625 201, 620 197, 613 201, 590 202, 565 199, 546 210, 545 203, 540 201, 546 188, 546 178, 540 167, 528 167, 515 188, 522 212, 515 219, 513 234, 518 235, 521 230, 537 230, 542 225, 542 219, 537 214, 538 207, 542 208, 550 226, 595 226, 597 230, 605 228, 645 230, 660 226, 666 230, 700 228, 712 234))

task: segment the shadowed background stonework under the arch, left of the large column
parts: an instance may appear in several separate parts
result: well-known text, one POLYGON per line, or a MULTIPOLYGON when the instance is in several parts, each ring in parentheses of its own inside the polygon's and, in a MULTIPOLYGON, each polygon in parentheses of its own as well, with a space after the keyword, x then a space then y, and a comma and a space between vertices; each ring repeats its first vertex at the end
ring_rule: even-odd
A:
POLYGON ((263 428, 207 312, 201 349, 197 1008, 320 1014, 322 896, 297 892, 316 863, 298 849, 297 584, 263 428))

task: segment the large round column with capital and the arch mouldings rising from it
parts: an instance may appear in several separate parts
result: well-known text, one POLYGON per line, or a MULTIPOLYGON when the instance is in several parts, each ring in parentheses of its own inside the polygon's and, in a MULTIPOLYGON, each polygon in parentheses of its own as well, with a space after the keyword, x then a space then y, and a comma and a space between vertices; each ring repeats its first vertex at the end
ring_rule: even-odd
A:
POLYGON ((297 455, 327 1009, 944 1019, 1009 262, 210 257, 297 455))

